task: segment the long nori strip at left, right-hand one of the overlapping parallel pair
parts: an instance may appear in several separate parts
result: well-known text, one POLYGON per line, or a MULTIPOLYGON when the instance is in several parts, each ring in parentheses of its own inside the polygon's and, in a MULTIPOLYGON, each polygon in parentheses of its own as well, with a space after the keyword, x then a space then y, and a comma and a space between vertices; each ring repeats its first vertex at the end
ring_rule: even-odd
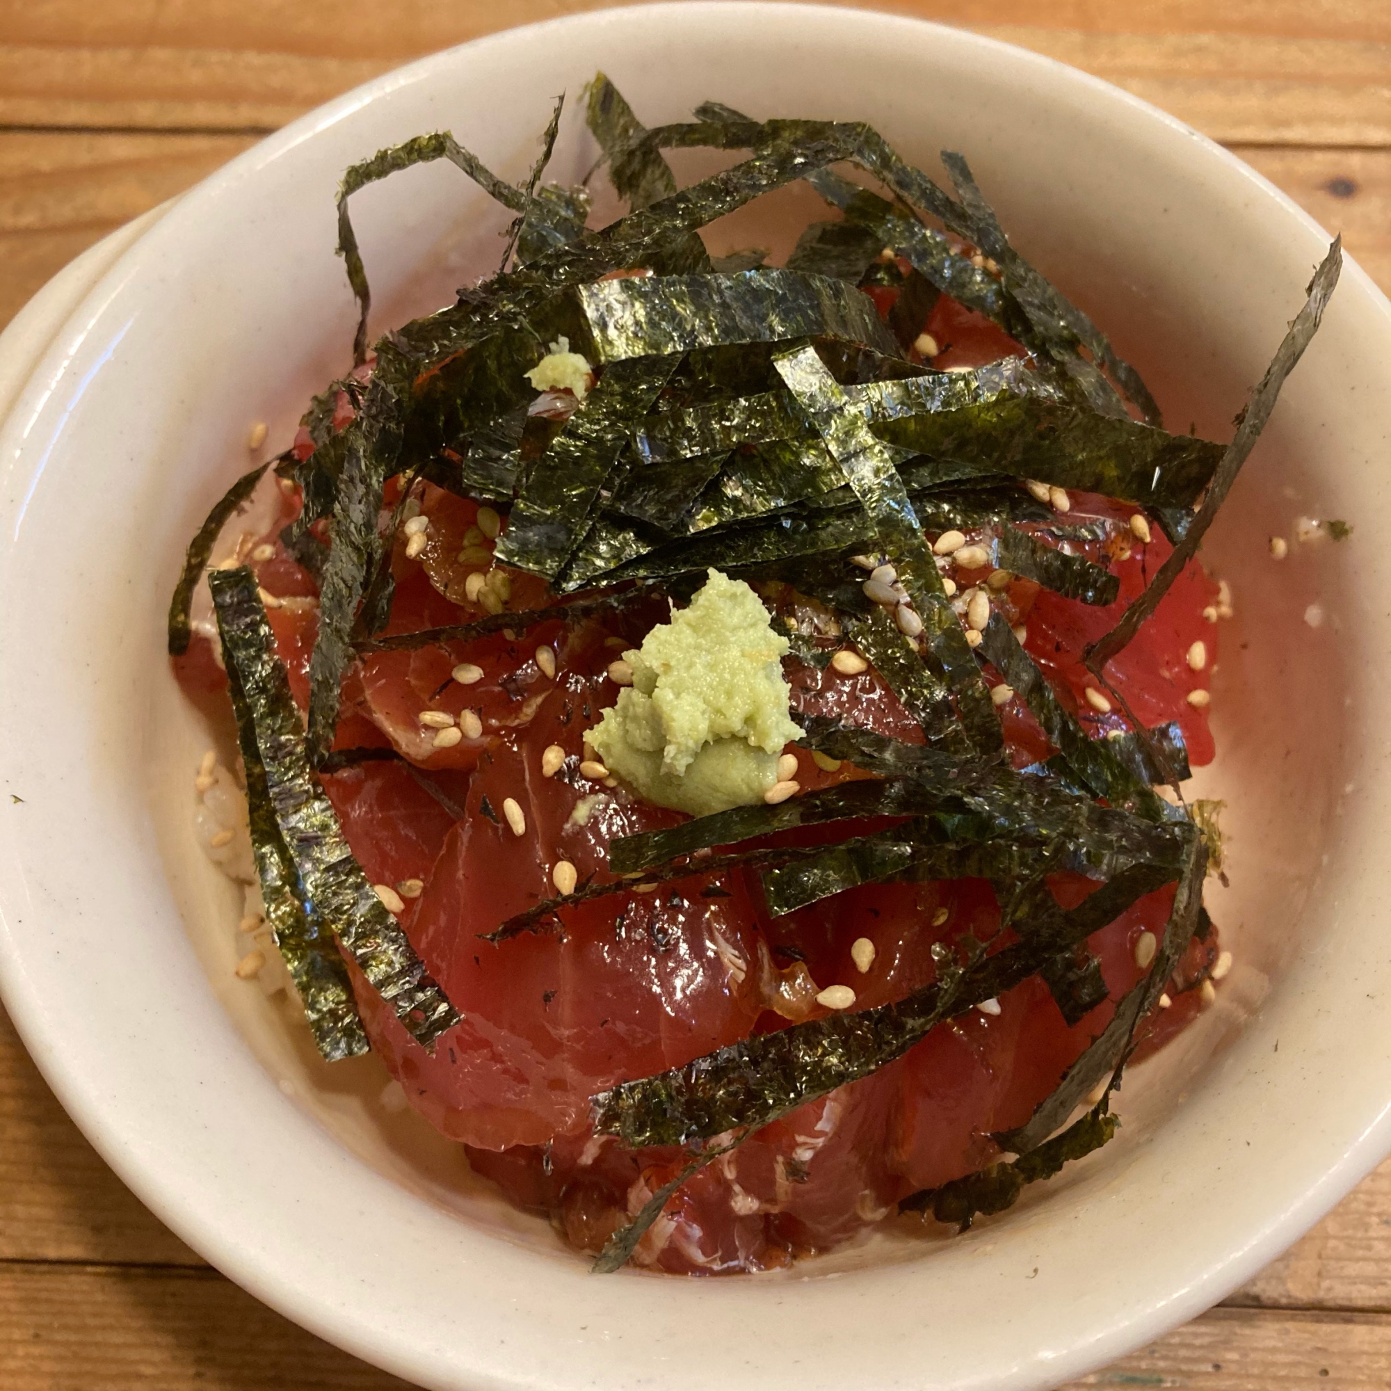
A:
POLYGON ((428 1047, 459 1015, 367 882, 314 776, 256 577, 246 568, 214 570, 209 584, 223 652, 228 670, 236 670, 300 901, 348 949, 409 1034, 428 1047))

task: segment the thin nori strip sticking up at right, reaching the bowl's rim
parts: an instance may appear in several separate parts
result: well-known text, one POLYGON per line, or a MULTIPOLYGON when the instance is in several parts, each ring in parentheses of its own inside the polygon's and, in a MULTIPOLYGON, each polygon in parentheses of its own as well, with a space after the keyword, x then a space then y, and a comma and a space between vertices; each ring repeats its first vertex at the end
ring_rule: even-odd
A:
POLYGON ((1168 559, 1159 568, 1159 573, 1145 586, 1143 593, 1121 615, 1120 622, 1103 638, 1093 643, 1086 651, 1086 666, 1093 675, 1100 675, 1106 664, 1120 652, 1127 643, 1139 632, 1141 625, 1155 612, 1159 601, 1168 593, 1168 587, 1182 574, 1188 562, 1198 554, 1198 547, 1207 534, 1217 509, 1223 505, 1231 485, 1237 481, 1241 466, 1260 438, 1260 431, 1266 428, 1270 413, 1276 409, 1280 388, 1285 378, 1294 371, 1295 364, 1303 356, 1305 348, 1319 331, 1323 321, 1323 312, 1338 284, 1338 274, 1342 270, 1342 238, 1335 236, 1328 248, 1328 255, 1314 271, 1309 281, 1308 298, 1303 307, 1295 314, 1280 348, 1260 384, 1252 394, 1251 401, 1237 417, 1237 434, 1227 452, 1221 456, 1221 463, 1213 474, 1203 505, 1193 517, 1192 524, 1184 538, 1170 552, 1168 559))

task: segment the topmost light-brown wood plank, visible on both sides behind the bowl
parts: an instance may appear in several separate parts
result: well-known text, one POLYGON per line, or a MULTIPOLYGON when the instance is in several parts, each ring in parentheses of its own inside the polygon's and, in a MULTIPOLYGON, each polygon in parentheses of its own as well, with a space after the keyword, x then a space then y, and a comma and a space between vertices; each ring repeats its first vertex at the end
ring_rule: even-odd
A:
MULTIPOLYGON (((252 0, 0 3, 0 124, 270 129, 376 72, 498 28, 601 0, 485 0, 448 7, 252 0)), ((1221 140, 1391 145, 1391 22, 1377 0, 1206 7, 1081 0, 887 0, 1096 72, 1221 140), (1160 32, 1164 29, 1177 32, 1160 32)))

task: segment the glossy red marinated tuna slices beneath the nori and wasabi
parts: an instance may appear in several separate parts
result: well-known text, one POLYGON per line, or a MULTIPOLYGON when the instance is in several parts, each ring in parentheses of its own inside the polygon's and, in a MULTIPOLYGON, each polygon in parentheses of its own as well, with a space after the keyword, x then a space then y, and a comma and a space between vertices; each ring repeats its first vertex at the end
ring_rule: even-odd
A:
MULTIPOLYGON (((970 366, 1018 351, 976 319, 946 298, 938 302, 928 325, 943 345, 938 366, 970 366)), ((1102 736, 1127 725, 1118 711, 1099 714, 1086 702, 1092 682, 1079 654, 1113 626, 1170 547, 1157 527, 1149 544, 1131 537, 1129 509, 1118 504, 1085 494, 1071 502, 1070 520, 1116 519, 1107 547, 1086 554, 1120 576, 1121 598, 1107 609, 1089 608, 1014 580, 1002 606, 1027 627, 1025 647, 1064 704, 1102 736)), ((396 542, 388 632, 470 622, 484 612, 467 601, 465 581, 470 569, 487 565, 462 566, 458 559, 477 508, 426 485, 423 512, 430 520, 426 551, 408 559, 405 538, 396 542)), ((476 542, 477 533, 472 536, 476 542)), ((313 594, 309 576, 278 547, 257 573, 271 594, 313 594)), ((768 598, 779 618, 797 609, 789 593, 768 598)), ((1187 696, 1210 679, 1217 626, 1203 609, 1216 601, 1217 586, 1192 565, 1114 666, 1117 684, 1142 721, 1180 722, 1195 765, 1210 761, 1213 747, 1206 709, 1187 696), (1207 652, 1202 670, 1191 669, 1187 655, 1198 640, 1207 652)), ((512 574, 509 608, 544 604, 541 581, 512 574)), ((967 931, 986 939, 999 926, 983 881, 871 885, 773 919, 762 907, 757 876, 726 874, 579 904, 563 914, 559 931, 497 944, 483 940, 502 919, 554 896, 558 861, 572 864, 581 885, 602 882, 612 839, 683 819, 579 772, 583 734, 618 694, 606 675, 609 662, 664 616, 654 604, 605 623, 566 629, 556 620, 517 637, 367 657, 345 682, 335 747, 391 747, 403 759, 364 762, 324 778, 369 878, 385 885, 421 881, 423 892, 405 900, 401 921, 463 1015, 431 1056, 353 968, 373 1046, 410 1103, 466 1146, 479 1173, 517 1205, 548 1213, 587 1251, 602 1246, 683 1163, 675 1150, 630 1152, 613 1138, 591 1135, 594 1092, 680 1066, 751 1032, 825 1014, 815 995, 828 985, 849 985, 854 1008, 901 999, 932 979, 933 942, 967 931), (541 645, 555 654, 554 675, 538 661, 541 645), (460 662, 481 668, 481 679, 453 680, 460 662), (481 733, 437 748, 435 730, 419 719, 427 709, 453 719, 472 711, 481 733), (542 753, 554 744, 566 759, 548 778, 542 753), (509 800, 524 819, 520 835, 505 815, 509 800), (851 958, 860 938, 875 947, 867 972, 851 958)), ((314 609, 287 605, 271 609, 270 619, 295 697, 305 705, 314 609)), ((224 684, 202 638, 175 666, 191 693, 224 684)), ((846 676, 789 658, 786 672, 796 708, 921 740, 872 670, 846 676)), ((988 679, 997 680, 989 669, 988 679)), ((1047 757, 1042 732, 1020 701, 1003 705, 1000 716, 1017 766, 1047 757)), ((826 772, 804 750, 789 751, 797 755, 804 789, 864 776, 850 765, 826 772)), ((1064 906, 1092 887, 1078 876, 1053 882, 1064 906)), ((1111 1000, 1077 1027, 1064 1024, 1038 979, 1004 996, 996 1015, 972 1010, 939 1027, 879 1072, 768 1125, 698 1173, 668 1203, 636 1260, 676 1273, 782 1266, 879 1221, 915 1189, 990 1163, 997 1152, 989 1134, 1028 1118, 1104 1027, 1111 1002, 1141 976, 1136 940, 1146 931, 1163 932, 1171 899, 1171 887, 1149 894, 1091 939, 1111 1000)), ((1213 947, 1212 940, 1193 943, 1175 979, 1191 979, 1213 947)), ((1175 993, 1173 1006, 1149 1021, 1145 1046, 1157 1046, 1199 1007, 1196 990, 1175 993)))

